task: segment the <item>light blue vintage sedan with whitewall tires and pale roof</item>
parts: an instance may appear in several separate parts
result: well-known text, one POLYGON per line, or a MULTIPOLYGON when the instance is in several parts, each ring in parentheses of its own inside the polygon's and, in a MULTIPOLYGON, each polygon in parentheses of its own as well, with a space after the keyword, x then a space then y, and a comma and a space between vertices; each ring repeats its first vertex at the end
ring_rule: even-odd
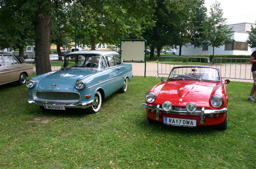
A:
POLYGON ((68 53, 60 70, 27 81, 28 104, 41 109, 88 108, 100 110, 102 100, 116 91, 124 93, 132 80, 132 65, 114 51, 68 53))

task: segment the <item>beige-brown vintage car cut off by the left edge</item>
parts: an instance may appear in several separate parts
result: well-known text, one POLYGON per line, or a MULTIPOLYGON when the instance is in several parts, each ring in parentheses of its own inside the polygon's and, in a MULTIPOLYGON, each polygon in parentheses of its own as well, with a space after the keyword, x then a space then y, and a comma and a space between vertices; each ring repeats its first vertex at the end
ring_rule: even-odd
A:
POLYGON ((32 64, 21 63, 13 54, 0 53, 0 85, 13 81, 24 85, 27 82, 27 76, 31 76, 33 71, 32 64))

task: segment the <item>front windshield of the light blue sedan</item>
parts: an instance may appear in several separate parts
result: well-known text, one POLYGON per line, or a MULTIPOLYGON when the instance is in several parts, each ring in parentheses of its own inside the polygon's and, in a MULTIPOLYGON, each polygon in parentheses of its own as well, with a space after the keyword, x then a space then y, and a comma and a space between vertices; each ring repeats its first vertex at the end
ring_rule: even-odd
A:
POLYGON ((69 55, 65 57, 62 68, 64 67, 82 67, 82 68, 107 68, 106 60, 101 55, 83 54, 69 55))

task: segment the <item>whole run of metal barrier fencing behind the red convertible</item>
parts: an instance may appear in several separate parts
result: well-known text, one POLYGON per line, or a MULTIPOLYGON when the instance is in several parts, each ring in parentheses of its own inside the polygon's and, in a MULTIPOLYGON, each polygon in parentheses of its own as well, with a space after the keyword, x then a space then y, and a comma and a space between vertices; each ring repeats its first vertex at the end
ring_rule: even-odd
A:
POLYGON ((159 74, 170 74, 175 66, 213 66, 220 69, 223 78, 253 80, 250 59, 247 58, 213 58, 206 57, 168 57, 157 59, 157 77, 159 74))

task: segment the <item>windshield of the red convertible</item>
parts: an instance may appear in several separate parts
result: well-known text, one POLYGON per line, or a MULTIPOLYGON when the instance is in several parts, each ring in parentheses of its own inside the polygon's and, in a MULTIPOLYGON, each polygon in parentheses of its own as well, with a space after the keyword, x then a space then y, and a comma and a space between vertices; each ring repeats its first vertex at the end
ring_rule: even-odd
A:
POLYGON ((218 69, 212 67, 176 67, 169 79, 177 78, 220 81, 220 74, 218 69))

